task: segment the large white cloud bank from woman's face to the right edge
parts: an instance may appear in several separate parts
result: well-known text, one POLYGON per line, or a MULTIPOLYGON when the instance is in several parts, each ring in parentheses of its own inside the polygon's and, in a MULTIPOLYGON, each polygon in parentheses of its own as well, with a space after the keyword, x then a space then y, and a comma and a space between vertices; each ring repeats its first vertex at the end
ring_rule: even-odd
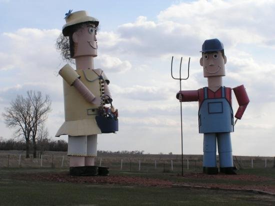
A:
MULTIPOLYGON (((217 37, 225 49, 238 44, 274 47, 271 0, 198 0, 174 4, 160 11, 156 21, 138 16, 135 22, 104 32, 106 47, 117 53, 158 57, 165 53, 198 53, 203 40, 217 37)), ((105 49, 105 48, 103 48, 105 49)))

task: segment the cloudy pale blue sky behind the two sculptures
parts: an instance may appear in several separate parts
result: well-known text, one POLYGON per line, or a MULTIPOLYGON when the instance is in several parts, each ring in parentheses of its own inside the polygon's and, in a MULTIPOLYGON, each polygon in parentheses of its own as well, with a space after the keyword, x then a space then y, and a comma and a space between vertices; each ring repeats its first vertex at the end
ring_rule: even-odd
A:
MULTIPOLYGON (((46 127, 52 139, 64 121, 62 78, 66 63, 55 40, 69 10, 99 19, 95 68, 110 79, 119 131, 98 135, 98 150, 181 153, 179 81, 183 90, 207 86, 199 64, 205 39, 218 38, 227 56, 223 84, 244 84, 245 113, 231 133, 233 155, 274 156, 274 0, 0 0, 0 113, 18 94, 41 91, 52 100, 46 127)), ((74 65, 72 65, 74 67, 74 65)), ((234 112, 238 108, 232 93, 234 112)), ((183 153, 202 154, 197 102, 182 103, 183 153)), ((0 136, 12 137, 0 115, 0 136)))

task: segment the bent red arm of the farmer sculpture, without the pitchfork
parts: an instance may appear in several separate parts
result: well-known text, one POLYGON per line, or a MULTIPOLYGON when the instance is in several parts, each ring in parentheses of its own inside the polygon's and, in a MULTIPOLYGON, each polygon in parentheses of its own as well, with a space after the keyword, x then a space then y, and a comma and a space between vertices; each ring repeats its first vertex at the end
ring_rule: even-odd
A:
POLYGON ((235 93, 235 96, 239 105, 238 110, 235 114, 235 117, 238 119, 241 119, 241 116, 244 113, 244 110, 247 104, 249 103, 249 98, 247 96, 247 93, 245 91, 243 84, 233 88, 233 91, 235 93))

